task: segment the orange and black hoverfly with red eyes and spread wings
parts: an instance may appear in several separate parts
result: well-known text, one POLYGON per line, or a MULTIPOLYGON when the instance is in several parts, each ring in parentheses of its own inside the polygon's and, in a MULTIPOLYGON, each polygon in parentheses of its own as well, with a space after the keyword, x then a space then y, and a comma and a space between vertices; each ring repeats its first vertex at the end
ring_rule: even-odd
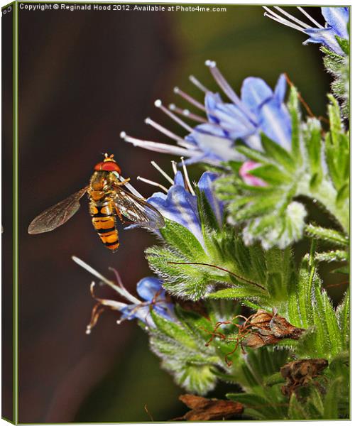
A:
MULTIPOLYGON (((124 223, 124 217, 133 224, 149 229, 164 226, 163 216, 143 198, 124 189, 128 179, 120 180, 121 169, 114 155, 104 155, 104 160, 94 167, 89 185, 75 192, 55 206, 40 213, 28 226, 28 234, 53 231, 65 224, 80 208, 80 199, 89 197, 89 213, 99 238, 113 253, 119 248, 119 232, 116 217, 124 223)), ((122 178, 123 179, 123 178, 122 178)))

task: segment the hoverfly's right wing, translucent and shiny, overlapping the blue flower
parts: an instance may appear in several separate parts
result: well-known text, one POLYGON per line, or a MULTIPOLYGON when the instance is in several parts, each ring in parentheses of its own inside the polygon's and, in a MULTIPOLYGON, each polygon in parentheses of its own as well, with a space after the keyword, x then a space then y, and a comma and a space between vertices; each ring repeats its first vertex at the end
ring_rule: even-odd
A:
POLYGON ((143 198, 136 197, 131 192, 124 190, 121 185, 114 186, 114 190, 116 191, 114 197, 116 208, 133 224, 150 229, 159 229, 165 226, 163 216, 143 198))

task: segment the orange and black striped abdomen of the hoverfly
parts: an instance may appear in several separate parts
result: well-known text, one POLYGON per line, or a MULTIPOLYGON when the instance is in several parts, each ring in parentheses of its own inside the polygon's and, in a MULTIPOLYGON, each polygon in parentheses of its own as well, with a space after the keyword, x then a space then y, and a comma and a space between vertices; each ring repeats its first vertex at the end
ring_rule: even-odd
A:
POLYGON ((114 207, 111 201, 90 202, 92 224, 107 249, 116 251, 119 248, 119 232, 114 217, 114 207))

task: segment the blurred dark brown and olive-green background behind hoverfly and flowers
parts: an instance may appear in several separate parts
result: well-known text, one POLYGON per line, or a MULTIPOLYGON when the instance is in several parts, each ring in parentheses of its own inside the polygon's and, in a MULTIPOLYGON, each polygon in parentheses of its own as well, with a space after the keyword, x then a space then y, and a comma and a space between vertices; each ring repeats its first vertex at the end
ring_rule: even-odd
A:
MULTIPOLYGON (((288 72, 315 114, 325 114, 329 78, 317 46, 302 46, 305 36, 263 18, 261 7, 226 9, 19 13, 20 422, 149 421, 144 405, 154 420, 185 412, 182 391, 160 370, 134 322, 118 326, 114 312, 105 312, 85 334, 92 277, 70 258, 79 256, 107 277, 113 266, 134 291, 150 274, 143 249, 153 237, 121 231, 119 251, 109 253, 92 229, 85 199, 53 232, 30 236, 27 227, 87 185, 104 152, 114 153, 123 175, 150 195, 153 188, 135 177, 163 182, 150 161, 170 171, 172 158, 133 148, 119 133, 164 141, 143 124, 151 116, 182 135, 153 102, 186 107, 173 95, 177 84, 200 97, 190 74, 216 89, 204 60, 217 60, 237 92, 249 75, 274 86, 280 72, 288 72)), ((312 14, 323 22, 318 9, 312 14)))

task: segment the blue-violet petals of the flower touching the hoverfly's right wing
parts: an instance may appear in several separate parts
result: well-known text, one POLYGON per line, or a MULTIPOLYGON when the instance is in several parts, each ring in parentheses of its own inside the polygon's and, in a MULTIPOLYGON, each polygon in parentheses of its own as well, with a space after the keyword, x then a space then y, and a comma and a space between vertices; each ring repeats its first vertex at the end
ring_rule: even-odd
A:
MULTIPOLYGON (((212 183, 216 178, 217 173, 204 172, 197 183, 197 187, 206 195, 219 225, 222 226, 223 203, 214 195, 212 188, 212 183)), ((188 229, 204 247, 201 222, 197 210, 197 197, 195 192, 191 193, 185 188, 181 172, 176 173, 174 184, 169 188, 167 194, 155 192, 148 198, 148 202, 157 208, 166 219, 177 222, 188 229)))

